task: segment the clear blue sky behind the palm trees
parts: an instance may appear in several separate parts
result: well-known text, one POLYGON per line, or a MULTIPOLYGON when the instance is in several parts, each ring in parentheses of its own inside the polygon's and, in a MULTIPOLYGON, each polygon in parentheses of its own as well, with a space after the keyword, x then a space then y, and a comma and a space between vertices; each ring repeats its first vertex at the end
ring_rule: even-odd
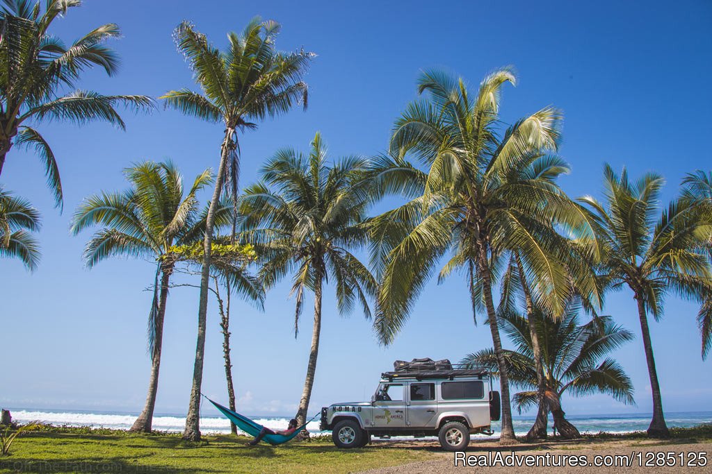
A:
MULTIPOLYGON (((157 97, 194 87, 176 53, 172 29, 187 18, 218 45, 252 16, 283 24, 278 46, 318 54, 308 75, 310 107, 295 110, 241 137, 243 183, 283 146, 306 149, 322 131, 331 156, 370 155, 387 146, 393 120, 416 97, 423 68, 444 67, 472 87, 493 68, 514 65, 519 82, 503 92, 502 115, 513 122, 549 104, 565 113, 561 154, 572 165, 562 179, 572 195, 600 195, 602 164, 633 176, 662 173, 672 198, 684 173, 709 169, 712 132, 712 3, 663 2, 333 2, 87 0, 56 23, 72 40, 115 22, 122 58, 116 77, 90 72, 80 87, 157 97)), ((125 188, 121 170, 133 161, 172 158, 192 179, 216 166, 222 128, 160 110, 125 114, 127 131, 107 124, 77 128, 44 124, 58 156, 65 210, 53 209, 38 160, 14 149, 0 177, 6 189, 43 213, 43 259, 34 274, 16 261, 0 267, 4 384, 0 404, 17 408, 140 411, 150 368, 146 318, 154 265, 115 259, 88 271, 80 259, 89 236, 71 237, 70 216, 99 190, 125 188), (9 355, 9 356, 8 356, 9 355)), ((207 196, 204 196, 204 199, 207 196)), ((264 312, 238 304, 232 316, 234 376, 242 411, 293 414, 310 345, 310 301, 295 340, 286 281, 268 294, 264 312)), ((459 360, 491 346, 486 326, 474 327, 464 282, 454 277, 424 291, 404 332, 379 347, 360 314, 338 316, 333 288, 324 301, 322 345, 312 409, 370 397, 395 359, 459 360)), ((208 320, 203 391, 224 400, 216 307, 208 320)), ((666 411, 708 409, 711 363, 700 357, 697 308, 669 298, 664 319, 651 323, 666 411)), ((570 399, 570 414, 650 411, 649 382, 632 293, 608 297, 605 313, 637 338, 616 352, 632 377, 637 406, 608 397, 570 399)), ((192 377, 197 291, 171 292, 166 316, 157 412, 184 413, 192 377)))

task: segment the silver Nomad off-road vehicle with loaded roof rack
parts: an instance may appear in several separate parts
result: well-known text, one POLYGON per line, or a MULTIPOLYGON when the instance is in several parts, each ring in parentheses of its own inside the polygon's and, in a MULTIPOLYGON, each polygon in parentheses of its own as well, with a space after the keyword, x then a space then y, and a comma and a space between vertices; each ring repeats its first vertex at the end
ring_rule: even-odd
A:
POLYGON ((462 451, 470 434, 492 434, 500 417, 499 392, 486 370, 384 372, 371 402, 321 409, 320 428, 340 448, 360 448, 371 436, 438 436, 446 451, 462 451))

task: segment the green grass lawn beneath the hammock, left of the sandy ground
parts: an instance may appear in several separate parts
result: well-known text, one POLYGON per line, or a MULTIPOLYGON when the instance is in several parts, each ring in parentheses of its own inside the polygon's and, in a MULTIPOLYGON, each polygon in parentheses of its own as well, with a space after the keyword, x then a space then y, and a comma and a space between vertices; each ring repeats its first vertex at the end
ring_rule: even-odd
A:
POLYGON ((293 441, 272 448, 248 438, 206 436, 186 443, 172 434, 46 429, 17 439, 0 473, 350 473, 431 457, 428 451, 369 446, 342 450, 333 443, 293 441))

